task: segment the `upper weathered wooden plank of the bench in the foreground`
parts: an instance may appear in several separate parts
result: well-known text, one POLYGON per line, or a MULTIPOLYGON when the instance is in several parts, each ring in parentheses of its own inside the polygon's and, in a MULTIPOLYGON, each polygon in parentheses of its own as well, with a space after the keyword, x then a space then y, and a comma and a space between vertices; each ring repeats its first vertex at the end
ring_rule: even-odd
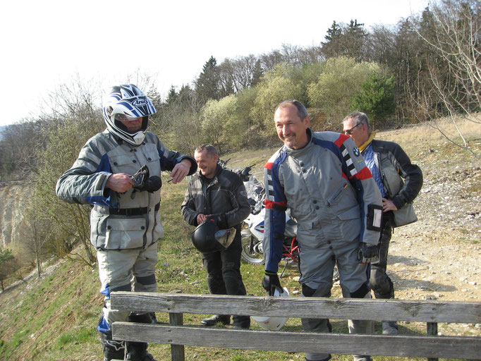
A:
POLYGON ((481 323, 481 302, 439 300, 359 300, 353 298, 274 298, 181 293, 111 293, 116 310, 200 314, 248 314, 330 319, 395 319, 414 322, 481 323))

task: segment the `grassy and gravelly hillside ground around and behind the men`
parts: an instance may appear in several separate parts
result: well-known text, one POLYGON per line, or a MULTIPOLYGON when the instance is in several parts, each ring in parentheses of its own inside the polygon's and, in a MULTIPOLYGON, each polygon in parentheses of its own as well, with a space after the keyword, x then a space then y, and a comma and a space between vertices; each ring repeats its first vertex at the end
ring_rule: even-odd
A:
MULTIPOLYGON (((470 145, 481 152, 481 127, 467 123, 470 145)), ((415 209, 419 221, 397 228, 391 240, 388 272, 395 283, 396 298, 419 300, 481 300, 481 164, 467 152, 450 145, 427 126, 379 133, 377 138, 395 140, 425 176, 415 209)), ((273 149, 228 154, 229 166, 262 166, 273 149)), ((181 185, 164 182, 162 221, 166 234, 159 242, 157 282, 159 291, 207 293, 200 255, 190 245, 192 228, 181 220, 181 185)), ((248 293, 263 295, 263 269, 243 264, 248 293)), ((300 290, 296 267, 288 267, 281 283, 296 297, 300 290)), ((102 307, 98 271, 63 259, 32 279, 0 294, 0 360, 102 360, 95 326, 102 307)), ((339 297, 339 284, 334 286, 339 297)), ((159 322, 166 316, 157 315, 159 322)), ((198 324, 203 315, 185 315, 186 324, 198 324)), ((253 327, 255 327, 253 325, 253 327)), ((291 318, 285 329, 300 329, 291 318)), ((334 322, 334 331, 346 332, 346 324, 334 322)), ((425 325, 401 323, 401 334, 422 333, 425 325)), ((379 324, 377 324, 379 331, 379 324)), ((481 336, 481 325, 439 325, 443 334, 481 336)), ((157 360, 169 360, 166 345, 152 345, 157 360)), ((243 350, 186 348, 187 360, 303 360, 303 354, 243 350)), ((333 360, 352 360, 335 355, 333 360)), ((376 357, 376 360, 394 360, 376 357)))

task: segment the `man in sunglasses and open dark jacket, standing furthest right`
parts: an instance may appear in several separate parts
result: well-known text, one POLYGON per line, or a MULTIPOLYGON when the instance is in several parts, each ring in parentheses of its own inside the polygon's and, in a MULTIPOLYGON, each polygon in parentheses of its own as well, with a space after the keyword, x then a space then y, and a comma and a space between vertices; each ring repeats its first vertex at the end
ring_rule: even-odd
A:
MULTIPOLYGON (((394 298, 394 285, 386 274, 387 254, 392 229, 416 221, 412 202, 422 186, 422 172, 395 142, 375 140, 369 118, 360 111, 343 120, 343 133, 359 148, 367 167, 382 194, 382 231, 379 238, 379 259, 371 263, 370 288, 376 298, 394 298)), ((382 322, 382 334, 398 334, 394 321, 382 322)))

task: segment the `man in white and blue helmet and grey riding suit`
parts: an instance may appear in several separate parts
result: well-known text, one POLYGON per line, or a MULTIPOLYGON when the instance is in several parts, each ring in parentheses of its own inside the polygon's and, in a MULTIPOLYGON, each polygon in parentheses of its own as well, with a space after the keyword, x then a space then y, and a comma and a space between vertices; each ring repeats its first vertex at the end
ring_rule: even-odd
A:
POLYGON ((90 204, 90 242, 97 250, 101 293, 105 295, 100 333, 104 361, 151 361, 147 343, 113 341, 116 321, 153 322, 145 312, 111 310, 109 295, 115 290, 155 292, 157 240, 160 222, 161 171, 171 171, 179 183, 197 170, 195 159, 169 151, 147 132, 149 116, 156 110, 133 84, 113 87, 104 103, 106 130, 94 135, 77 160, 59 178, 56 194, 71 203, 90 204))

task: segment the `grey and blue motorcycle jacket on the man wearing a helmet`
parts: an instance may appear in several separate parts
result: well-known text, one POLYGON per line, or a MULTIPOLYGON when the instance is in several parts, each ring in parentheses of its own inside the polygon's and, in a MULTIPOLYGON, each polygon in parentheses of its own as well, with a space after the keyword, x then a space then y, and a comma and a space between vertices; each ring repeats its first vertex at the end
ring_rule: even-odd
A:
POLYGON ((119 194, 105 188, 113 173, 135 174, 147 165, 150 176, 171 171, 182 159, 189 159, 190 174, 197 170, 195 159, 164 147, 147 132, 138 146, 130 145, 108 130, 90 138, 77 160, 59 178, 56 194, 70 203, 90 204, 90 242, 97 250, 145 248, 164 234, 159 216, 160 189, 154 192, 130 188, 119 194))

